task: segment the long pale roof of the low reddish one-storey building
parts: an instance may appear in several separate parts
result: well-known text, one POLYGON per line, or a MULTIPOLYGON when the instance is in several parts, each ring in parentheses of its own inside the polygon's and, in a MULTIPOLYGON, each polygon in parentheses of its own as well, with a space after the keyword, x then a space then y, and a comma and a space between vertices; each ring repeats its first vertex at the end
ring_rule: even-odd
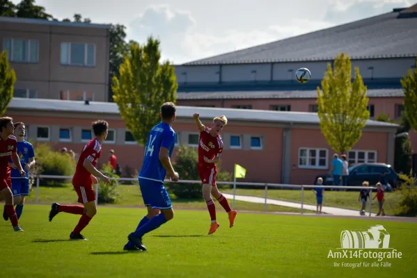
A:
MULTIPOLYGON (((84 101, 64 101, 55 99, 21 99, 13 98, 8 109, 24 111, 51 111, 51 112, 74 112, 74 113, 95 113, 95 114, 119 114, 118 106, 110 102, 90 102, 88 105, 84 101)), ((283 112, 283 111, 263 111, 246 110, 233 108, 205 108, 177 106, 177 117, 190 118, 194 113, 200 113, 204 119, 212 119, 219 115, 226 115, 228 120, 254 121, 254 122, 284 122, 297 124, 319 124, 317 113, 304 112, 283 112)), ((102 116, 100 116, 102 117, 102 116)), ((377 122, 368 120, 367 126, 397 127, 397 124, 387 122, 377 122)))

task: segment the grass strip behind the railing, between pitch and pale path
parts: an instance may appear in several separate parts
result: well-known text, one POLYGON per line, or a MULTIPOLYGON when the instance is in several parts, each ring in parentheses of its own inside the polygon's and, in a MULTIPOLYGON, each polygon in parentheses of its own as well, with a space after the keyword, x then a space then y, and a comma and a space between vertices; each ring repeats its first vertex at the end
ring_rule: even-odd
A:
MULTIPOLYGON (((118 193, 120 194, 117 206, 143 206, 143 199, 141 195, 141 190, 139 186, 118 186, 118 193)), ((192 209, 207 209, 203 197, 199 199, 177 199, 175 196, 171 195, 171 200, 175 208, 192 208, 192 209)), ((26 203, 33 204, 36 202, 36 188, 33 188, 33 191, 27 197, 26 203)), ((77 204, 77 193, 73 190, 72 186, 64 187, 39 187, 39 203, 40 204, 50 204, 53 202, 58 202, 61 204, 77 204)), ((223 208, 217 203, 217 210, 223 211, 223 208)), ((229 200, 230 206, 232 206, 232 200, 229 200)), ((254 204, 249 202, 239 202, 236 201, 235 208, 238 211, 264 211, 264 204, 254 204)), ((269 212, 285 212, 285 213, 299 213, 301 210, 298 208, 288 208, 286 206, 274 206, 267 205, 267 211, 269 212)), ((313 213, 313 211, 305 211, 305 213, 313 213)))

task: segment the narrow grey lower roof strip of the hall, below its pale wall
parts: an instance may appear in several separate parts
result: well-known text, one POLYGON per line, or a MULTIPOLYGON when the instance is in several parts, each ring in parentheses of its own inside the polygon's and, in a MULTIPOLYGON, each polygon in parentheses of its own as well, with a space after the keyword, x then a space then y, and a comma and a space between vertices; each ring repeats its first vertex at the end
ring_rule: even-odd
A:
MULTIPOLYGON (((368 97, 404 97, 402 89, 372 89, 368 97)), ((178 92, 177 99, 316 99, 317 90, 178 92)))

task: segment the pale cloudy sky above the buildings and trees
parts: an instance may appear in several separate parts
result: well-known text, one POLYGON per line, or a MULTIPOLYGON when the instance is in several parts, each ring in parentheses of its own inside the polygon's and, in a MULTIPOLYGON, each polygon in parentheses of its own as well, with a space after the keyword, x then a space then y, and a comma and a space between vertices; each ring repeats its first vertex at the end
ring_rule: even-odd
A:
MULTIPOLYGON (((19 0, 13 0, 18 3, 19 0)), ((38 0, 63 19, 80 13, 94 23, 127 26, 128 39, 161 40, 175 64, 388 13, 416 0, 38 0)))

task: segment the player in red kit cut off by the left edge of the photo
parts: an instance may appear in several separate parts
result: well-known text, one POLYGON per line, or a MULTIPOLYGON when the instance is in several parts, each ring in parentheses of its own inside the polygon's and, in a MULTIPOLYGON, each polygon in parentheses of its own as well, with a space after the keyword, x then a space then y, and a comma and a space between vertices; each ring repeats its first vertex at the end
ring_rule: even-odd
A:
POLYGON ((15 206, 13 204, 13 194, 10 188, 12 187, 12 179, 10 177, 9 160, 12 158, 13 163, 19 170, 22 178, 26 176, 26 172, 22 169, 19 156, 17 155, 17 139, 12 136, 15 130, 13 126, 13 119, 11 117, 0 117, 0 192, 5 199, 5 210, 12 222, 15 231, 23 231, 19 227, 15 206))

